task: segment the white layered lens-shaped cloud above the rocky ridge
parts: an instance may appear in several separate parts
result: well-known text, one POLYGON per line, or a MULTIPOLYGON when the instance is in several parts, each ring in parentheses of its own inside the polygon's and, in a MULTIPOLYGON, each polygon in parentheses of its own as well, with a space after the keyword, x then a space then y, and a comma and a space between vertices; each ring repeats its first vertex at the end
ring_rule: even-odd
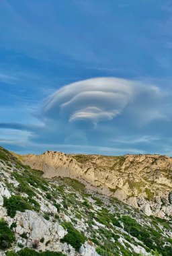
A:
POLYGON ((97 125, 120 115, 138 95, 157 93, 155 86, 143 86, 115 77, 100 77, 69 84, 46 100, 44 117, 68 123, 89 121, 97 125))

